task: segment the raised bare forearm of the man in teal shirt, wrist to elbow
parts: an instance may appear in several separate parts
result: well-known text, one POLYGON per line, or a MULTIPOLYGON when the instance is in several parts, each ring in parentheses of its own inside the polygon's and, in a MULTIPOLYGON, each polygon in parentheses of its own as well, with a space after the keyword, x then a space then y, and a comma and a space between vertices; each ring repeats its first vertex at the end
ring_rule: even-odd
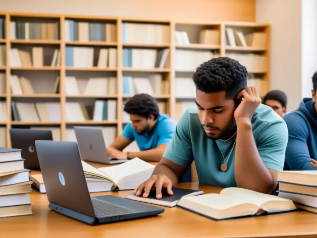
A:
POLYGON ((270 193, 276 186, 273 176, 259 155, 252 124, 248 122, 237 122, 234 171, 239 188, 270 193))

